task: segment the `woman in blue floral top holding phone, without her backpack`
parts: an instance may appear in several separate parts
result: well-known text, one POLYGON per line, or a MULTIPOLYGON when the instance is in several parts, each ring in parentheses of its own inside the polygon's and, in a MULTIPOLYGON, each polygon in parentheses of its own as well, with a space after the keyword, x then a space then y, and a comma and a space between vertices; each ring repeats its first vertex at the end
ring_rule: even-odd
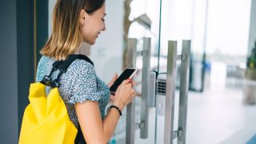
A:
MULTIPOLYGON (((50 73, 56 60, 76 54, 82 42, 93 45, 101 31, 106 30, 104 0, 58 0, 53 13, 53 32, 38 63, 37 82, 50 73)), ((58 72, 53 77, 57 77, 58 72)), ((117 78, 115 74, 109 86, 117 78)), ((82 130, 86 143, 107 143, 124 107, 132 102, 134 89, 130 79, 118 87, 113 106, 105 115, 110 98, 109 86, 95 74, 90 62, 77 59, 60 79, 59 92, 65 102, 70 120, 82 130), (119 111, 121 110, 121 111, 119 111)), ((47 87, 46 92, 49 92, 47 87)))

